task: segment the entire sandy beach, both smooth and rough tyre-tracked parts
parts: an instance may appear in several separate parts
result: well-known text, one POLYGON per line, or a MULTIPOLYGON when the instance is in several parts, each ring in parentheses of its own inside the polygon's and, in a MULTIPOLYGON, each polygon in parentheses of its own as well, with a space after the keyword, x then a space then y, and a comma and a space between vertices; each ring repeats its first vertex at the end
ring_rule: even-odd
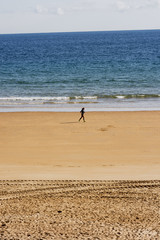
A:
POLYGON ((78 118, 0 113, 0 240, 159 240, 160 112, 78 118))

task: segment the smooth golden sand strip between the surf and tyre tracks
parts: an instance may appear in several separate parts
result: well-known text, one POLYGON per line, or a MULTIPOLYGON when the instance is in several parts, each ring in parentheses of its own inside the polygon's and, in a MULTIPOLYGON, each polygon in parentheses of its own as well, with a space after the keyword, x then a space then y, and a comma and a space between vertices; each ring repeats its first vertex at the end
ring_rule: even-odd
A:
POLYGON ((160 112, 0 113, 1 179, 160 179, 160 112))

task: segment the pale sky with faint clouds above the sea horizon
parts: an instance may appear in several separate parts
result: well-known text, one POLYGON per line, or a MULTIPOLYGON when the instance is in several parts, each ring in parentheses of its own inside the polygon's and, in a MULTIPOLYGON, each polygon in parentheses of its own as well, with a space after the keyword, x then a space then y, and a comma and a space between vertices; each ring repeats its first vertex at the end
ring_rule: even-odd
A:
POLYGON ((160 0, 0 0, 0 34, 160 29, 160 0))

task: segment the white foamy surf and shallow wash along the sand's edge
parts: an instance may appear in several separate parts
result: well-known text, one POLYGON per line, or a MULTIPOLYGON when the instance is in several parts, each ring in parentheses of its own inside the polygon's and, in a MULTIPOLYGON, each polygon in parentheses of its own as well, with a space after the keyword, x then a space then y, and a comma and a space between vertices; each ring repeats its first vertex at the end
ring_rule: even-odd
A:
MULTIPOLYGON (((159 97, 160 98, 160 97, 159 97)), ((85 107, 86 112, 117 111, 160 111, 159 98, 144 99, 109 99, 99 102, 20 102, 0 104, 0 112, 77 112, 85 107)))

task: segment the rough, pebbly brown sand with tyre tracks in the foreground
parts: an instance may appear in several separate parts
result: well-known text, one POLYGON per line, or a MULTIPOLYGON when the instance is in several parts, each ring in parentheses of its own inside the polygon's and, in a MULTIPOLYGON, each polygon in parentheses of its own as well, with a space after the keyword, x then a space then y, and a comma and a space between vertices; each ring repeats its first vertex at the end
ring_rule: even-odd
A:
POLYGON ((160 181, 0 181, 1 240, 159 240, 160 181))

